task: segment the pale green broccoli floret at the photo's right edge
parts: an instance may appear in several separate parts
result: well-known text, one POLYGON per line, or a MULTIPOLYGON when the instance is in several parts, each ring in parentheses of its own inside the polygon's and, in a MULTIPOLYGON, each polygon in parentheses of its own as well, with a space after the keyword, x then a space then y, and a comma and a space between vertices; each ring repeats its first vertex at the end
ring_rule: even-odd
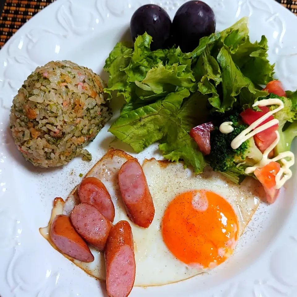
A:
MULTIPOLYGON (((280 140, 276 147, 276 153, 283 153, 291 149, 291 144, 297 136, 297 91, 295 93, 288 91, 286 97, 279 97, 269 94, 267 98, 278 98, 283 101, 284 108, 274 114, 274 118, 279 120, 278 133, 280 140)), ((270 110, 274 110, 277 106, 270 106, 270 110)))

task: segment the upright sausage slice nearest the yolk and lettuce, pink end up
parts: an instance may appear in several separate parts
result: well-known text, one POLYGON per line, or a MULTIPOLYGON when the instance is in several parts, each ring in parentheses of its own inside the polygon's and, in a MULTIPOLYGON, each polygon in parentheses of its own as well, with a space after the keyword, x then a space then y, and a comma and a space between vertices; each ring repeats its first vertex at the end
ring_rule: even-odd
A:
POLYGON ((118 185, 131 221, 148 228, 155 208, 141 165, 135 159, 124 163, 118 174, 118 185))

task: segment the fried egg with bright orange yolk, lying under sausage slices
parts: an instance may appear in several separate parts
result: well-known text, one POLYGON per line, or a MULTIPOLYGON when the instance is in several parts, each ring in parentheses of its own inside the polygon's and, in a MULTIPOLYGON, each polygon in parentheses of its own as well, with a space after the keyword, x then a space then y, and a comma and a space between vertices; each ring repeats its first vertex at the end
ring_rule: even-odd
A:
MULTIPOLYGON (((179 282, 222 264, 234 252, 236 243, 255 213, 262 187, 252 178, 241 185, 206 169, 195 175, 183 163, 145 160, 143 170, 153 197, 155 216, 149 228, 133 224, 127 217, 118 188, 118 171, 132 157, 110 149, 87 176, 100 179, 115 207, 114 224, 127 220, 132 228, 136 259, 135 286, 158 286, 179 282)), ((56 198, 49 228, 58 214, 69 215, 78 204, 77 187, 64 202, 56 198)), ((88 274, 105 280, 102 252, 91 247, 95 260, 83 263, 66 256, 88 274)))

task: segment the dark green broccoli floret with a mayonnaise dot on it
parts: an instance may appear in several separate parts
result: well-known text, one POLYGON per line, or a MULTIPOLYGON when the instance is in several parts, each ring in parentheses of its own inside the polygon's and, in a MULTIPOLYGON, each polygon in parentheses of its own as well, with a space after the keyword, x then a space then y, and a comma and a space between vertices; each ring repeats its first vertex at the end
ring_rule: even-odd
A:
POLYGON ((245 167, 255 165, 262 158, 262 153, 256 147, 253 138, 245 141, 238 149, 231 148, 232 140, 247 127, 248 125, 241 121, 239 113, 236 112, 220 118, 210 135, 211 153, 208 156, 210 166, 237 183, 240 181, 239 176, 244 175, 245 167), (229 134, 221 133, 219 127, 223 122, 232 122, 234 131, 229 134))

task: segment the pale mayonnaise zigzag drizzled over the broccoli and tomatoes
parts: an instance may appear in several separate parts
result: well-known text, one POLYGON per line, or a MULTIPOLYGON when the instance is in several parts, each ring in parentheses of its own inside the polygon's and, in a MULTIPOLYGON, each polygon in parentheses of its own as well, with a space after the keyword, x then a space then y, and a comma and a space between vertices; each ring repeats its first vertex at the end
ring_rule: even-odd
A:
MULTIPOLYGON (((249 138, 255 136, 257 133, 262 132, 274 125, 279 124, 278 119, 273 119, 273 120, 269 121, 268 123, 265 123, 264 125, 258 127, 262 122, 264 122, 271 115, 277 113, 278 111, 280 111, 284 108, 284 104, 283 104, 282 100, 276 99, 276 98, 263 99, 260 101, 256 101, 256 103, 253 105, 253 107, 254 106, 267 106, 267 105, 278 105, 278 108, 276 108, 275 110, 269 111, 268 113, 263 115, 261 118, 257 119, 247 129, 243 130, 237 137, 235 137, 235 139, 231 142, 232 149, 238 149, 240 147, 240 145, 243 144, 243 142, 245 142, 249 138)), ((229 125, 229 122, 225 122, 223 124, 229 125)), ((221 131, 221 129, 220 129, 220 131, 221 131)), ((222 133, 224 133, 224 132, 222 132, 222 133)), ((275 177, 275 182, 276 182, 275 188, 280 189, 286 183, 286 181, 292 177, 292 171, 290 170, 290 167, 293 166, 295 163, 295 156, 292 152, 287 151, 287 152, 278 154, 278 156, 274 157, 273 159, 268 158, 269 153, 277 146, 277 144, 280 140, 278 131, 275 131, 275 133, 277 135, 277 139, 273 142, 273 144, 271 144, 269 146, 269 148, 267 148, 265 150, 265 152, 263 153, 262 160, 259 163, 257 163, 255 166, 246 168, 244 172, 246 174, 250 174, 250 173, 253 173, 257 168, 264 167, 267 164, 269 164, 270 162, 281 161, 282 167, 275 177), (289 160, 286 160, 286 158, 288 158, 289 160)))

